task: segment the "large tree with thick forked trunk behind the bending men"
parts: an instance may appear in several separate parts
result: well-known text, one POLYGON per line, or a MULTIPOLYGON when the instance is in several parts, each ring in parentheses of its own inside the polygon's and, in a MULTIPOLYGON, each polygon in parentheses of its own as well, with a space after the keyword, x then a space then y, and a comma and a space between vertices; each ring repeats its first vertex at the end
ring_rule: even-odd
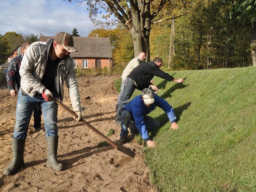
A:
MULTIPOLYGON (((72 0, 68 1, 72 2, 72 0)), ((144 50, 148 60, 151 25, 160 20, 171 19, 169 14, 165 14, 167 15, 165 18, 157 17, 163 8, 166 12, 170 12, 172 7, 170 0, 76 0, 76 2, 78 4, 86 2, 90 19, 95 25, 112 26, 120 22, 124 24, 132 35, 134 55, 137 56, 144 50), (96 19, 98 14, 102 14, 106 19, 105 22, 96 19), (114 18, 111 17, 112 15, 114 18)))

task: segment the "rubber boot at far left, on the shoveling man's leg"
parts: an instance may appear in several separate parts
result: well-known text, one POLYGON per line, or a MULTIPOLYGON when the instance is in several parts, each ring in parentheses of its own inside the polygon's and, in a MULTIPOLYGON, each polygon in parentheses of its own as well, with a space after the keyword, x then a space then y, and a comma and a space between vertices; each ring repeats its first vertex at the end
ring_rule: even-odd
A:
POLYGON ((12 155, 13 160, 11 164, 4 170, 4 175, 13 175, 18 168, 24 165, 24 148, 26 138, 15 139, 12 138, 12 155))

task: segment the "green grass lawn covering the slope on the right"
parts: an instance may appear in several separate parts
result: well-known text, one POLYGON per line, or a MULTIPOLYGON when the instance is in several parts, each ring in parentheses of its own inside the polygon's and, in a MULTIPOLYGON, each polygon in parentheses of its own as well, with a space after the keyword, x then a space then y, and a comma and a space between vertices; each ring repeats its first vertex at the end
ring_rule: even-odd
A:
POLYGON ((153 79, 179 128, 160 108, 150 114, 161 122, 156 147, 143 148, 151 181, 164 192, 256 192, 256 67, 168 73, 184 83, 153 79))

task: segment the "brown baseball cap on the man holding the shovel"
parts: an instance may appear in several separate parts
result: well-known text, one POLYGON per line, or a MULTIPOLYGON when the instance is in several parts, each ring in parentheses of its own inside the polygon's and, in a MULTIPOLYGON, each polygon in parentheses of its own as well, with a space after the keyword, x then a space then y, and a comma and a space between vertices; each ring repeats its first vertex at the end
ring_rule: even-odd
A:
POLYGON ((68 52, 77 51, 76 48, 74 48, 74 40, 72 36, 67 32, 58 32, 54 36, 53 40, 58 44, 62 45, 63 48, 66 49, 68 52))

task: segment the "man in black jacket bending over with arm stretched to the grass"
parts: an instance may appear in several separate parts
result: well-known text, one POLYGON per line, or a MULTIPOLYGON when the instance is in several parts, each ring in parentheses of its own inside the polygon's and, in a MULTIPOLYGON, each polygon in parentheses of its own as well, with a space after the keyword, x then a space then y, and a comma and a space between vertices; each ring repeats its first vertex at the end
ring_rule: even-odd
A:
MULTIPOLYGON (((162 59, 159 57, 154 58, 153 61, 145 62, 137 66, 130 72, 130 74, 126 77, 126 83, 124 87, 123 96, 120 100, 120 104, 118 105, 116 112, 116 124, 120 124, 121 114, 120 109, 127 104, 128 100, 131 98, 135 89, 143 90, 145 88, 149 88, 150 81, 154 76, 158 76, 168 81, 174 81, 176 83, 182 83, 183 79, 175 79, 173 76, 170 76, 168 73, 160 70, 162 66, 162 59)), ((156 86, 152 87, 153 90, 157 91, 158 88, 156 86)))

